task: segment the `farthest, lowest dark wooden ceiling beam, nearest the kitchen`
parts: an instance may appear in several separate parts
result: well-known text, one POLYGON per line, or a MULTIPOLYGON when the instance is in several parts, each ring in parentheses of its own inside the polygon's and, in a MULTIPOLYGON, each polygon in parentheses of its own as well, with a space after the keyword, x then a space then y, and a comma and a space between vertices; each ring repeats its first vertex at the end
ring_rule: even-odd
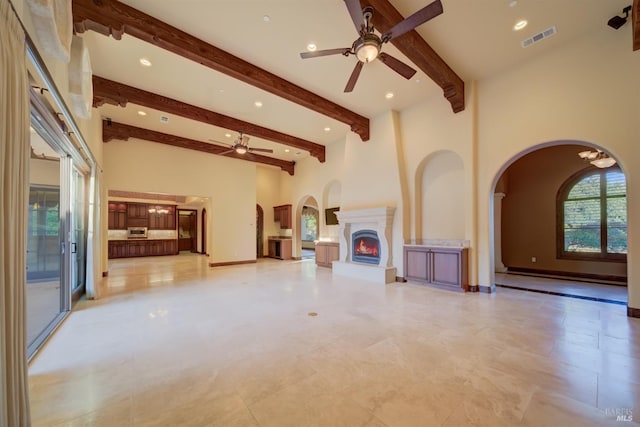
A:
MULTIPOLYGON (((221 155, 222 153, 229 151, 226 147, 209 144, 207 142, 196 141, 194 139, 170 135, 168 133, 125 125, 111 120, 102 121, 102 142, 106 143, 114 139, 128 141, 129 138, 143 139, 145 141, 157 142, 159 144, 166 144, 173 147, 186 148, 188 150, 201 151, 203 153, 216 155, 221 155)), ((233 159, 247 160, 269 166, 277 166, 283 171, 288 172, 289 175, 293 175, 293 167, 296 164, 295 162, 288 162, 286 160, 274 159, 273 157, 261 156, 252 153, 238 154, 236 152, 231 152, 225 154, 223 157, 231 157, 233 159)))

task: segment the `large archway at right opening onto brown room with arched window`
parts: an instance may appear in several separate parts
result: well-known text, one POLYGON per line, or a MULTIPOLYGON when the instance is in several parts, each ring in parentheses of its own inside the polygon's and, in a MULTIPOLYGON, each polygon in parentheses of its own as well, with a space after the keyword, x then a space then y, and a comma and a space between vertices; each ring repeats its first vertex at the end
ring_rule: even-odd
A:
POLYGON ((496 175, 490 204, 494 213, 493 283, 497 287, 626 304, 626 253, 609 256, 608 252, 619 248, 605 244, 597 251, 576 249, 568 254, 574 250, 567 248, 573 245, 569 240, 576 233, 600 235, 619 227, 619 223, 607 220, 611 207, 606 207, 606 197, 567 197, 569 187, 580 182, 576 177, 591 177, 594 183, 598 180, 589 188, 600 191, 602 187, 605 192, 610 191, 606 184, 609 175, 622 180, 625 189, 622 194, 616 190, 615 203, 620 206, 624 198, 620 215, 626 236, 624 174, 619 167, 599 169, 578 155, 591 147, 573 141, 541 144, 514 156, 496 175), (581 219, 575 219, 577 214, 581 219))

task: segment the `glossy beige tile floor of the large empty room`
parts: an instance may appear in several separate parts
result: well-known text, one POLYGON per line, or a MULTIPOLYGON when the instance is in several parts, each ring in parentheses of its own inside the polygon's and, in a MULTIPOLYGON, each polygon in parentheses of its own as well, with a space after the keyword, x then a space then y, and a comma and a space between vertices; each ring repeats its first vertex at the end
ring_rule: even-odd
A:
POLYGON ((624 306, 206 263, 112 261, 30 366, 33 425, 638 425, 624 306))

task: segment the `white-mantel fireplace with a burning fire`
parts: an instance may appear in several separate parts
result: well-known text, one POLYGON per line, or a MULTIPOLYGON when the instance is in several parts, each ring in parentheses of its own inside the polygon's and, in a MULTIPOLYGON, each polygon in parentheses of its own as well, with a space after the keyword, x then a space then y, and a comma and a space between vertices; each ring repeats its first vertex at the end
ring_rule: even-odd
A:
POLYGON ((393 267, 394 207, 336 212, 340 224, 340 259, 333 261, 333 274, 377 283, 396 280, 393 267))

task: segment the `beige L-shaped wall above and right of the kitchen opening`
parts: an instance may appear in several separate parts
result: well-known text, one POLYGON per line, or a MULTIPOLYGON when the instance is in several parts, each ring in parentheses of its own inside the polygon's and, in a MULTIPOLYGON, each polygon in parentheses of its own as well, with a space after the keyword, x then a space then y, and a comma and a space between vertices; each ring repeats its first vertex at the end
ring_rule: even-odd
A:
POLYGON ((254 163, 131 139, 105 144, 107 189, 207 198, 210 262, 256 257, 254 163))

